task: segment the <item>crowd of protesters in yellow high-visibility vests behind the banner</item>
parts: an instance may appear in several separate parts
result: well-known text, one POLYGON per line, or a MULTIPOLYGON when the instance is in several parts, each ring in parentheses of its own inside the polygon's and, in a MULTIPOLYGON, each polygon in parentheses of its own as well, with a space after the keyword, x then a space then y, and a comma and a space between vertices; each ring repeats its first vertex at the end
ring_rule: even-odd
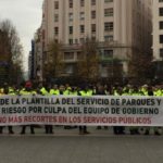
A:
MULTIPOLYGON (((150 86, 150 85, 142 85, 142 86, 133 86, 126 85, 121 86, 116 84, 114 86, 106 85, 106 84, 84 84, 80 86, 75 85, 57 85, 57 84, 38 84, 33 85, 30 82, 27 82, 24 86, 9 86, 4 84, 0 88, 0 96, 3 95, 13 95, 13 96, 25 96, 25 95, 52 95, 52 96, 163 96, 163 86, 150 86)), ((21 134, 24 135, 26 133, 26 125, 22 126, 21 134)), ((29 125, 30 134, 35 134, 35 125, 29 125)), ((0 134, 3 133, 4 126, 0 127, 0 134)), ((14 134, 13 127, 8 126, 9 134, 14 134)), ((64 129, 71 129, 74 126, 64 126, 64 129)), ((78 126, 79 134, 85 135, 89 134, 87 130, 87 126, 78 126)), ((105 126, 104 129, 109 127, 105 126)), ((139 135, 145 134, 149 135, 151 127, 123 127, 123 126, 113 126, 113 133, 115 135, 123 135, 126 134, 127 129, 129 130, 130 135, 139 135)), ((102 129, 101 126, 97 126, 97 129, 102 129)), ((161 127, 153 127, 155 135, 162 134, 161 127)), ((45 126, 46 134, 53 134, 53 126, 46 125, 45 126)))

